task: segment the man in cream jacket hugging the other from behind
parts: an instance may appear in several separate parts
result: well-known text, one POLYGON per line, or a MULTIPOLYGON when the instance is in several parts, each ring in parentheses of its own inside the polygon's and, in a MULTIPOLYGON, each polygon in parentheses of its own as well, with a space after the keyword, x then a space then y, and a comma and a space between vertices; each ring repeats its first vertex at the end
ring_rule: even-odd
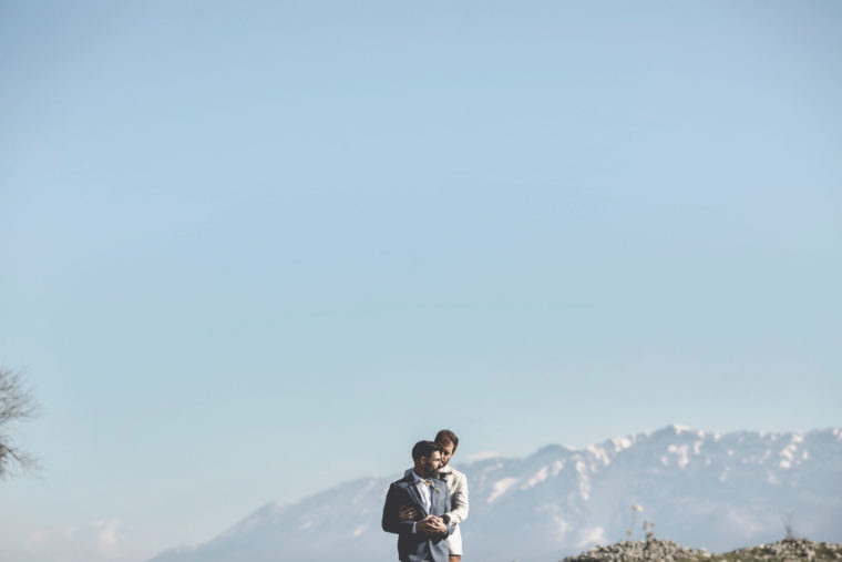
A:
MULTIPOLYGON (((444 513, 442 519, 445 524, 455 525, 448 537, 449 562, 460 562, 462 559, 462 533, 459 530, 459 523, 468 519, 468 479, 462 472, 448 466, 459 446, 456 435, 450 429, 442 429, 437 433, 435 442, 442 449, 442 468, 439 470, 439 478, 448 484, 451 503, 450 511, 444 513)), ((407 474, 410 472, 411 470, 407 470, 407 474)), ((412 505, 404 505, 400 511, 400 518, 403 521, 414 521, 417 517, 418 511, 412 505)))

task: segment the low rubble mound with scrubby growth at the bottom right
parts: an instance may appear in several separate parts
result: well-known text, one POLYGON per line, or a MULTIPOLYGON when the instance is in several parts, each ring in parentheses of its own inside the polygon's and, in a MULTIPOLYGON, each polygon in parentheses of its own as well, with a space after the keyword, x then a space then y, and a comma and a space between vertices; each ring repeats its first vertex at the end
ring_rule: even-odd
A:
POLYGON ((686 549, 671 541, 622 541, 607 546, 595 546, 562 562, 825 562, 842 560, 842 544, 812 542, 807 539, 782 541, 735 550, 726 554, 711 554, 706 549, 686 549))

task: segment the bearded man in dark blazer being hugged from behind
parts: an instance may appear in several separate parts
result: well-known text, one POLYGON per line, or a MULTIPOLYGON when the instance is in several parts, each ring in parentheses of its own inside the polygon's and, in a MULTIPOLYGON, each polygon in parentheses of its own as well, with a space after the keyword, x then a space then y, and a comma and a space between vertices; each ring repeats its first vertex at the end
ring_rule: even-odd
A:
POLYGON ((419 441, 412 448, 412 470, 392 482, 383 504, 383 531, 398 534, 398 558, 401 562, 448 562, 448 535, 454 525, 442 515, 451 510, 450 493, 442 468, 442 448, 433 441, 419 441), (411 505, 417 517, 401 520, 401 505, 411 505))

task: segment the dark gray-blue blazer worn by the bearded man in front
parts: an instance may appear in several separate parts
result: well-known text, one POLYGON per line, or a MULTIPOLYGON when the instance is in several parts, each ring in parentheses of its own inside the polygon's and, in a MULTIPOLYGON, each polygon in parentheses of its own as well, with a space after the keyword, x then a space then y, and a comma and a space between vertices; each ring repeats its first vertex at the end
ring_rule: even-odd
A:
POLYGON ((448 531, 439 535, 413 533, 412 521, 401 521, 401 505, 414 505, 419 521, 427 515, 443 515, 450 511, 450 493, 444 480, 433 479, 430 490, 430 511, 424 509, 421 495, 415 488, 415 481, 410 473, 389 486, 383 504, 383 531, 398 534, 398 558, 401 562, 448 562, 448 535, 454 525, 448 525, 448 531))

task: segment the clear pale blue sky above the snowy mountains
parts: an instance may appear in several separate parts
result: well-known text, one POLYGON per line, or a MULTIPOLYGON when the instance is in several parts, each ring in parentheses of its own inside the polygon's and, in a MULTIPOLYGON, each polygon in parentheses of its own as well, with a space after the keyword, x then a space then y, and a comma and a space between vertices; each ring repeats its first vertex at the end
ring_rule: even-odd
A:
POLYGON ((0 558, 677 422, 840 427, 842 6, 0 1, 0 558))

